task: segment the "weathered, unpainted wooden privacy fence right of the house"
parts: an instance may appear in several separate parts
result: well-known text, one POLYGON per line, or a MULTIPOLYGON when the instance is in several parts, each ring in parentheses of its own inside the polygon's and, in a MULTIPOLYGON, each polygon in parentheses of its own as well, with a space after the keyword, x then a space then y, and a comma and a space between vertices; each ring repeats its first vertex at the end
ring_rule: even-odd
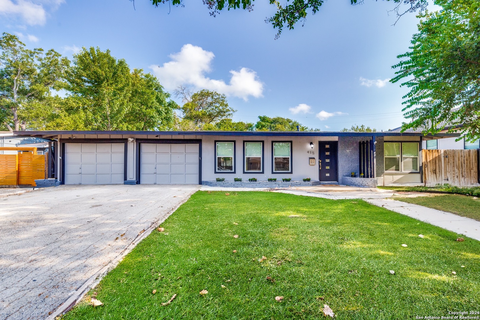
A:
POLYGON ((478 150, 422 150, 423 182, 427 187, 449 184, 479 186, 478 150))

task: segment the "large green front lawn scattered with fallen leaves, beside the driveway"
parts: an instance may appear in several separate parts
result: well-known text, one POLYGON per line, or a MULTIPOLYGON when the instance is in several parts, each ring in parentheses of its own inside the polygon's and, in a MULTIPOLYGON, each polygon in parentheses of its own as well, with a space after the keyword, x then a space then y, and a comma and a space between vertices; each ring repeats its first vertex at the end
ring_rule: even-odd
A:
POLYGON ((479 241, 364 201, 199 191, 162 227, 100 282, 103 306, 88 304, 91 292, 62 320, 325 319, 324 304, 362 320, 479 310, 479 241))

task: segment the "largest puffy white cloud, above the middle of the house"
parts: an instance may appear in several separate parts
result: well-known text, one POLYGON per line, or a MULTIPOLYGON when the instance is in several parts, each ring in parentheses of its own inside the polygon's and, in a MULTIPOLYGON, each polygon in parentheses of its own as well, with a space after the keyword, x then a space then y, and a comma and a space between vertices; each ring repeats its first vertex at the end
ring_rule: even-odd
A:
POLYGON ((171 61, 162 67, 152 65, 150 68, 167 90, 179 85, 192 85, 196 89, 214 90, 225 95, 232 95, 244 100, 249 96, 262 97, 264 85, 257 73, 248 68, 240 71, 230 70, 230 82, 210 79, 205 73, 212 71, 211 63, 215 58, 213 52, 191 44, 184 45, 180 52, 170 55, 171 61))

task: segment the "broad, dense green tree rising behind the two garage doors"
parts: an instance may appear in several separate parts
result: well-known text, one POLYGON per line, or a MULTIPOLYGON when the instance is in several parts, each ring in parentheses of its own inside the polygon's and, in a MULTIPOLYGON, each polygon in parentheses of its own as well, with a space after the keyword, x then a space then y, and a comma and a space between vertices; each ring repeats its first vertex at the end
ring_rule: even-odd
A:
MULTIPOLYGON (((130 71, 124 59, 90 47, 73 56, 67 72, 71 104, 63 110, 84 130, 164 130, 172 126, 169 94, 151 74, 130 71)), ((67 126, 72 120, 63 118, 67 126)))

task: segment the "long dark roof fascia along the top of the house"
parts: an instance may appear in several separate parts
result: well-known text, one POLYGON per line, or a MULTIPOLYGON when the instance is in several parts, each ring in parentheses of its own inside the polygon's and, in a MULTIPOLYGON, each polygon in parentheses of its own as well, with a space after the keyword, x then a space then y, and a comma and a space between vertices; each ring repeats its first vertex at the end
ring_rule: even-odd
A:
MULTIPOLYGON (((23 136, 46 138, 56 135, 74 134, 121 134, 121 135, 204 135, 204 136, 283 136, 283 137, 365 137, 365 136, 422 136, 421 132, 339 132, 339 131, 103 131, 103 130, 49 130, 13 131, 23 136)), ((433 137, 432 135, 428 135, 433 137)), ((435 137, 458 137, 458 133, 438 133, 435 137)))

